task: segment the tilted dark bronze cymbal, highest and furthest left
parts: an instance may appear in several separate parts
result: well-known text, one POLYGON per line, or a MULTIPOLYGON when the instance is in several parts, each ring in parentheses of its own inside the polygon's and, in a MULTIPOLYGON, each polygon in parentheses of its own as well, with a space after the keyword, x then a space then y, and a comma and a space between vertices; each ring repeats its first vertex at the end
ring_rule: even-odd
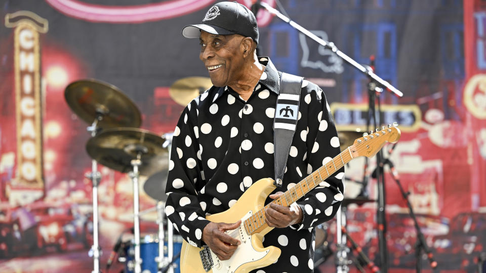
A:
POLYGON ((140 111, 116 86, 84 79, 71 82, 64 90, 71 110, 88 124, 99 118, 98 125, 111 127, 140 127, 140 111))

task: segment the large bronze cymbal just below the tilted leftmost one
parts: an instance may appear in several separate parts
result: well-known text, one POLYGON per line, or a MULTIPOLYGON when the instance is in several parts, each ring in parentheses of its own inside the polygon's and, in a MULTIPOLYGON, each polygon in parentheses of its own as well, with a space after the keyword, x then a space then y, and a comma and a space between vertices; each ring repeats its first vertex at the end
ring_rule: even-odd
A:
POLYGON ((140 154, 141 175, 168 169, 169 151, 162 148, 165 139, 139 128, 109 128, 86 144, 86 151, 100 164, 120 172, 133 170, 131 161, 140 154))

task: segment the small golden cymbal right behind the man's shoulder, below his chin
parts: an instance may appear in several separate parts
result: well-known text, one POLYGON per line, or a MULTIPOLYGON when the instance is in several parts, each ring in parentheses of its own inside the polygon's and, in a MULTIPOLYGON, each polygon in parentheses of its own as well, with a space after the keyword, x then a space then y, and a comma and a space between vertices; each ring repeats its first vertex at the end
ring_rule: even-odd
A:
POLYGON ((213 86, 208 77, 187 77, 177 80, 169 88, 169 95, 178 104, 186 106, 213 86))

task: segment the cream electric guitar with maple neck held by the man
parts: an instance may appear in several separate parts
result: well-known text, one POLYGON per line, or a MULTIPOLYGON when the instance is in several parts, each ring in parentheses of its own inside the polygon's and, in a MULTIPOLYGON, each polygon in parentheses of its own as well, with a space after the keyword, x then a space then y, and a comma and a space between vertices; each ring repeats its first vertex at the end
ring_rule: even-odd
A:
MULTIPOLYGON (((387 143, 395 143, 400 139, 400 130, 388 125, 388 128, 376 129, 370 134, 364 133, 362 138, 342 151, 325 165, 313 171, 293 188, 277 197, 272 203, 290 206, 306 193, 321 185, 324 181, 347 162, 360 156, 372 157, 387 143)), ((183 273, 244 273, 264 267, 275 262, 280 256, 280 249, 274 246, 263 247, 262 238, 273 228, 265 222, 264 206, 268 195, 275 186, 273 179, 263 178, 253 184, 236 203, 228 210, 209 215, 206 218, 213 222, 232 223, 241 219, 241 225, 236 230, 225 233, 241 241, 229 260, 219 260, 209 247, 198 248, 186 241, 182 243, 181 272, 183 273)))

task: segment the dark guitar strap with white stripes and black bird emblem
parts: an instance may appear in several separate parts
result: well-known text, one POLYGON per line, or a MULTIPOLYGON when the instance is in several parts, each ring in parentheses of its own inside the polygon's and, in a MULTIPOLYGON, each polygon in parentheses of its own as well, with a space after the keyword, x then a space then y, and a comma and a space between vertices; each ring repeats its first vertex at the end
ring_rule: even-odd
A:
POLYGON ((282 73, 280 77, 280 92, 275 106, 273 120, 273 157, 275 161, 275 181, 277 187, 282 186, 285 166, 289 157, 292 139, 294 138, 299 116, 300 89, 303 77, 282 73))

